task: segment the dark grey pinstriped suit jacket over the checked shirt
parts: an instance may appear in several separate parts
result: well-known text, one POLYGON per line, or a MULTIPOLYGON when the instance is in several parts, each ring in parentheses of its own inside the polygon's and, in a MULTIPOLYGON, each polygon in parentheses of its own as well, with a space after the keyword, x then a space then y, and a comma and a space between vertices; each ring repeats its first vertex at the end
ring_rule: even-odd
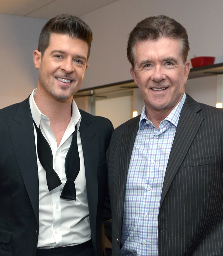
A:
MULTIPOLYGON (((126 179, 140 116, 114 131, 107 152, 112 255, 119 255, 126 179)), ((223 110, 183 105, 166 168, 158 256, 223 255, 223 110)))

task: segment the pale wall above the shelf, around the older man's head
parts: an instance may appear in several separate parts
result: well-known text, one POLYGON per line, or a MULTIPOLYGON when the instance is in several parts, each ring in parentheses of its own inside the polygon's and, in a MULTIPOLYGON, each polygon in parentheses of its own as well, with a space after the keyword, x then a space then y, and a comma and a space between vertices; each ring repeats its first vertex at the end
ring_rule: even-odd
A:
POLYGON ((223 62, 222 10, 222 0, 118 0, 82 16, 94 33, 82 89, 132 79, 126 57, 128 34, 148 16, 164 14, 186 28, 189 59, 206 55, 223 62))

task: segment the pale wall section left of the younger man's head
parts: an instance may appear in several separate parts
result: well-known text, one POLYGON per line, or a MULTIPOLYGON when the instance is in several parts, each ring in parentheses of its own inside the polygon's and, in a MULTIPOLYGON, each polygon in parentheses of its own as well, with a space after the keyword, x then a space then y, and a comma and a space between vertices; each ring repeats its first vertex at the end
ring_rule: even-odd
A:
POLYGON ((0 14, 0 108, 27 98, 37 86, 33 51, 46 20, 0 14))

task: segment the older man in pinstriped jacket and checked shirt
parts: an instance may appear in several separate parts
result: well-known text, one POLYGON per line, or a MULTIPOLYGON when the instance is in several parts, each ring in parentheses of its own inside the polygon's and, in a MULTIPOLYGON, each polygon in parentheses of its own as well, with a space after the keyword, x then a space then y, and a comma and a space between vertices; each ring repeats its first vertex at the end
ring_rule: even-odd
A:
POLYGON ((112 255, 223 255, 223 111, 185 93, 185 28, 164 16, 129 34, 141 115, 107 151, 112 255))

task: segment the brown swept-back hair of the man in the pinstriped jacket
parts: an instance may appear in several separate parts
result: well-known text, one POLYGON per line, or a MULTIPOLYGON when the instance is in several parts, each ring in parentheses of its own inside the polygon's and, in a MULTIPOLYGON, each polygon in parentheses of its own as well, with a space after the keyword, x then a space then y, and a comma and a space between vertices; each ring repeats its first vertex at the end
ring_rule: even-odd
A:
POLYGON ((190 50, 186 29, 174 19, 159 15, 140 21, 129 34, 127 57, 133 68, 135 65, 135 44, 148 39, 158 39, 162 36, 179 39, 182 59, 183 62, 186 62, 190 50))

